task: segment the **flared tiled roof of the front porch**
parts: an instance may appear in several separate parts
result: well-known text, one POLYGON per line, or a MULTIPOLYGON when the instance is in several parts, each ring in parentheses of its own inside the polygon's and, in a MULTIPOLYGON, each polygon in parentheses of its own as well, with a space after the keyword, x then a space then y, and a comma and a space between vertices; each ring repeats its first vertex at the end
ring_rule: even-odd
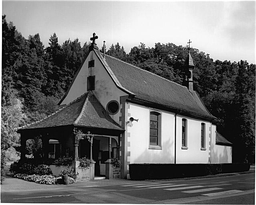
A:
POLYGON ((23 126, 21 129, 35 129, 77 125, 83 127, 124 130, 107 113, 93 92, 89 91, 42 121, 23 126))

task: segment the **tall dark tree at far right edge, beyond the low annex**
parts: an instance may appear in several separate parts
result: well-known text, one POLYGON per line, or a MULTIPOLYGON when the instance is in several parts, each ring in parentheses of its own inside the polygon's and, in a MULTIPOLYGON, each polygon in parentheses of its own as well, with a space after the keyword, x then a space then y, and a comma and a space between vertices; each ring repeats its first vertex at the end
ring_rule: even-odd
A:
POLYGON ((251 74, 251 70, 255 70, 255 65, 250 66, 243 60, 238 62, 234 98, 236 116, 234 118, 233 155, 236 161, 253 163, 255 160, 255 87, 252 88, 249 83, 252 81, 251 78, 255 79, 255 72, 252 76, 248 75, 251 74), (252 93, 250 90, 254 91, 252 96, 249 94, 252 93))

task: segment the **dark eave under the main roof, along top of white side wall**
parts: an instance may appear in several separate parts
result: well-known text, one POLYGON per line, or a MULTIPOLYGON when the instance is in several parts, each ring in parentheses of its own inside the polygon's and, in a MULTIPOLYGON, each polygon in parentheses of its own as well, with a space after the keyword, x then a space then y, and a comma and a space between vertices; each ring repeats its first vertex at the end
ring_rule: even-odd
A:
POLYGON ((166 106, 166 105, 161 105, 161 104, 158 104, 158 103, 155 103, 155 102, 150 102, 150 101, 147 101, 147 100, 142 100, 142 99, 136 98, 136 97, 135 98, 128 98, 127 100, 130 101, 130 102, 134 102, 135 104, 138 104, 138 105, 146 105, 148 107, 153 107, 153 108, 157 108, 157 109, 161 109, 161 110, 165 110, 165 111, 170 111, 170 112, 173 112, 173 113, 179 113, 181 115, 185 115, 185 116, 188 116, 188 117, 194 117, 196 119, 207 120, 207 121, 210 121, 214 124, 219 123, 219 120, 216 117, 210 117, 210 116, 205 116, 205 115, 201 115, 201 114, 198 114, 198 113, 192 113, 192 112, 189 112, 189 111, 184 111, 184 110, 179 109, 179 108, 166 106))

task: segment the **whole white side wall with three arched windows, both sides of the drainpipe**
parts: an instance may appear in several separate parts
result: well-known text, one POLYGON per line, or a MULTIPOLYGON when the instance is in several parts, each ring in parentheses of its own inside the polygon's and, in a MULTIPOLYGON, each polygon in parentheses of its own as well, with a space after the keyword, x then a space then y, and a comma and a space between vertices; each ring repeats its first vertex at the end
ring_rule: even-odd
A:
MULTIPOLYGON (((174 163, 175 114, 129 103, 128 113, 139 119, 127 126, 130 133, 130 163, 174 163), (150 111, 161 113, 161 149, 149 149, 150 111)), ((129 117, 127 117, 128 121, 129 117)), ((211 123, 177 115, 176 163, 209 163, 209 134, 211 123), (187 148, 181 149, 181 120, 187 119, 187 148), (201 150, 201 123, 206 124, 206 150, 201 150)))

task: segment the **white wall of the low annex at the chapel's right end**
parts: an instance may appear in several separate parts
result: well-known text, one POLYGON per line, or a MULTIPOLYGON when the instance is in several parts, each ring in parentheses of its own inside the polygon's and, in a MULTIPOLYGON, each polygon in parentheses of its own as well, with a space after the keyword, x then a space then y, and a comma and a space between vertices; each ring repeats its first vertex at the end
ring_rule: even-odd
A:
POLYGON ((232 147, 225 145, 216 145, 216 126, 212 126, 212 150, 211 163, 232 163, 232 147))

